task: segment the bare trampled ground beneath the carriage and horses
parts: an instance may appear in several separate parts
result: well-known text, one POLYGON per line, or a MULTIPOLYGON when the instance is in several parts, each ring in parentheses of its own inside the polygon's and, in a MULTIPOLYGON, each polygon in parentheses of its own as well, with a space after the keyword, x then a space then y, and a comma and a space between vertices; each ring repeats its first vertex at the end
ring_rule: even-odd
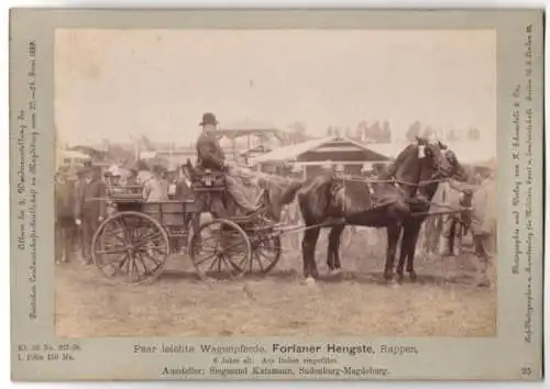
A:
MULTIPOLYGON (((339 276, 314 285, 284 254, 266 276, 210 285, 174 256, 152 285, 112 284, 79 260, 56 265, 61 337, 209 335, 494 336, 496 290, 475 287, 475 259, 418 256, 416 284, 382 281, 383 257, 353 242, 339 276)), ((494 258, 496 259, 496 258, 494 258)), ((317 263, 327 274, 323 249, 317 263)))

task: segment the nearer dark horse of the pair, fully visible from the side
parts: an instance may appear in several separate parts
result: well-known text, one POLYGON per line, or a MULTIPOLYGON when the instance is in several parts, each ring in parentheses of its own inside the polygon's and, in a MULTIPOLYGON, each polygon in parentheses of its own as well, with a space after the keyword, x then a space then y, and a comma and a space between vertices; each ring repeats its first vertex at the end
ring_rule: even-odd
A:
POLYGON ((302 240, 304 276, 318 278, 315 251, 321 227, 331 227, 327 265, 329 270, 339 269, 340 235, 346 224, 386 227, 387 251, 384 277, 392 278, 397 242, 405 220, 411 216, 410 200, 415 198, 421 177, 448 177, 452 166, 441 152, 440 145, 424 138, 407 146, 395 162, 380 175, 377 181, 321 175, 311 180, 294 184, 284 193, 298 202, 306 224, 302 240))

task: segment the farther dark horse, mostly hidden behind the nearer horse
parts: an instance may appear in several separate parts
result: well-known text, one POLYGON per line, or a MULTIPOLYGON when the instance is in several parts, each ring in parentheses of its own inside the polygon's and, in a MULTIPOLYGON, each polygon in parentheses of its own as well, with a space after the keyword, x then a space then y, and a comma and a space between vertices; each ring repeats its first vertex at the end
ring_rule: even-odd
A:
MULTIPOLYGON (((468 181, 469 174, 466 169, 460 164, 459 159, 454 152, 449 149, 447 145, 438 142, 438 148, 442 152, 444 158, 448 160, 451 169, 448 171, 447 177, 452 177, 460 181, 468 181)), ((420 185, 418 186, 418 194, 417 201, 411 201, 410 207, 411 211, 415 213, 419 213, 420 215, 414 218, 407 218, 403 223, 403 237, 402 237, 402 246, 399 251, 399 263, 397 264, 397 280, 402 282, 404 279, 404 266, 405 260, 407 260, 407 273, 409 274, 409 278, 411 282, 416 280, 415 273, 415 253, 416 245, 418 242, 418 235, 420 233, 422 223, 428 218, 427 213, 430 209, 430 202, 436 194, 439 184, 441 182, 440 175, 437 171, 430 171, 430 168, 424 168, 420 175, 420 185), (425 213, 425 215, 421 215, 425 213)), ((393 265, 393 264, 392 264, 393 265)), ((388 277, 387 273, 385 273, 386 279, 388 277)))

